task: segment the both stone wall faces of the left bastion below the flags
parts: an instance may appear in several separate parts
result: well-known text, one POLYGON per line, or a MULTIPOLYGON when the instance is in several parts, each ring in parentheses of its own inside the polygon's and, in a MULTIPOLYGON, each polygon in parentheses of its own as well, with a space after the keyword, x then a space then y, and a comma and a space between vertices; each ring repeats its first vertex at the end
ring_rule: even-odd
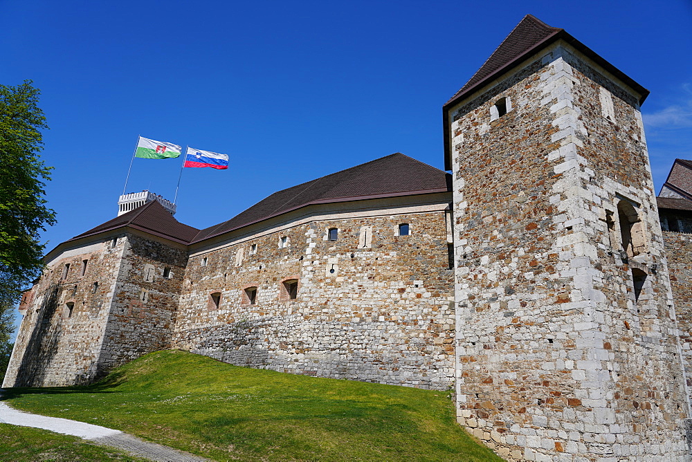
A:
POLYGON ((129 233, 64 252, 26 299, 4 385, 85 385, 170 348, 186 260, 184 248, 129 233))

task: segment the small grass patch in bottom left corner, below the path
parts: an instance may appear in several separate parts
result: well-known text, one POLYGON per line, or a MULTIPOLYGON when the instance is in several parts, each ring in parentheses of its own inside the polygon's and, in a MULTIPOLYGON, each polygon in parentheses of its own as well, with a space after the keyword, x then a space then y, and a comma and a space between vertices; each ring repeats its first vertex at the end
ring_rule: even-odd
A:
POLYGON ((143 462, 124 452, 98 446, 76 436, 0 423, 0 461, 12 462, 143 462))

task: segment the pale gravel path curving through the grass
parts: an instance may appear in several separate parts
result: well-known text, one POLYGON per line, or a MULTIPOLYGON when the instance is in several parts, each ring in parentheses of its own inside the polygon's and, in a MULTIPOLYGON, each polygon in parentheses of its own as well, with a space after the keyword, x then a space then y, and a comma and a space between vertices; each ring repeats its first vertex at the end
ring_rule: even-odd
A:
MULTIPOLYGON (((0 396, 1 392, 2 389, 0 389, 0 396)), ((80 438, 93 441, 94 443, 98 443, 100 445, 117 447, 120 450, 130 452, 136 456, 144 457, 150 461, 208 461, 208 459, 202 459, 201 457, 193 456, 187 452, 174 450, 171 447, 140 440, 140 438, 120 432, 120 430, 100 427, 99 425, 91 425, 90 423, 71 421, 67 418, 29 414, 28 412, 12 409, 12 407, 10 407, 7 403, 3 403, 1 401, 0 423, 19 425, 21 427, 42 428, 51 430, 51 432, 79 436, 80 438)))

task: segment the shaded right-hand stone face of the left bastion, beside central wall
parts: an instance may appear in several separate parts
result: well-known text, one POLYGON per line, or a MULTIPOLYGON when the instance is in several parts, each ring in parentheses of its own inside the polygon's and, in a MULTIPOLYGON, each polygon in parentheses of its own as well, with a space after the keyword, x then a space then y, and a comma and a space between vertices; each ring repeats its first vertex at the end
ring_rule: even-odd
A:
POLYGON ((131 233, 119 241, 122 261, 98 358, 102 371, 151 351, 170 349, 188 257, 183 246, 131 233))

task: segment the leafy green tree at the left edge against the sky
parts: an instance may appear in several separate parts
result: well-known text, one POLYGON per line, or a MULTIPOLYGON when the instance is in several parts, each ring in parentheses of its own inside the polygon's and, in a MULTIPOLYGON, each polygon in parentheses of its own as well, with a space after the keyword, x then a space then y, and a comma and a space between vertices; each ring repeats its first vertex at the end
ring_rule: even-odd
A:
POLYGON ((41 272, 45 245, 38 232, 55 223, 43 189, 51 167, 38 155, 41 129, 48 128, 39 94, 30 80, 0 85, 0 309, 17 302, 41 272))

